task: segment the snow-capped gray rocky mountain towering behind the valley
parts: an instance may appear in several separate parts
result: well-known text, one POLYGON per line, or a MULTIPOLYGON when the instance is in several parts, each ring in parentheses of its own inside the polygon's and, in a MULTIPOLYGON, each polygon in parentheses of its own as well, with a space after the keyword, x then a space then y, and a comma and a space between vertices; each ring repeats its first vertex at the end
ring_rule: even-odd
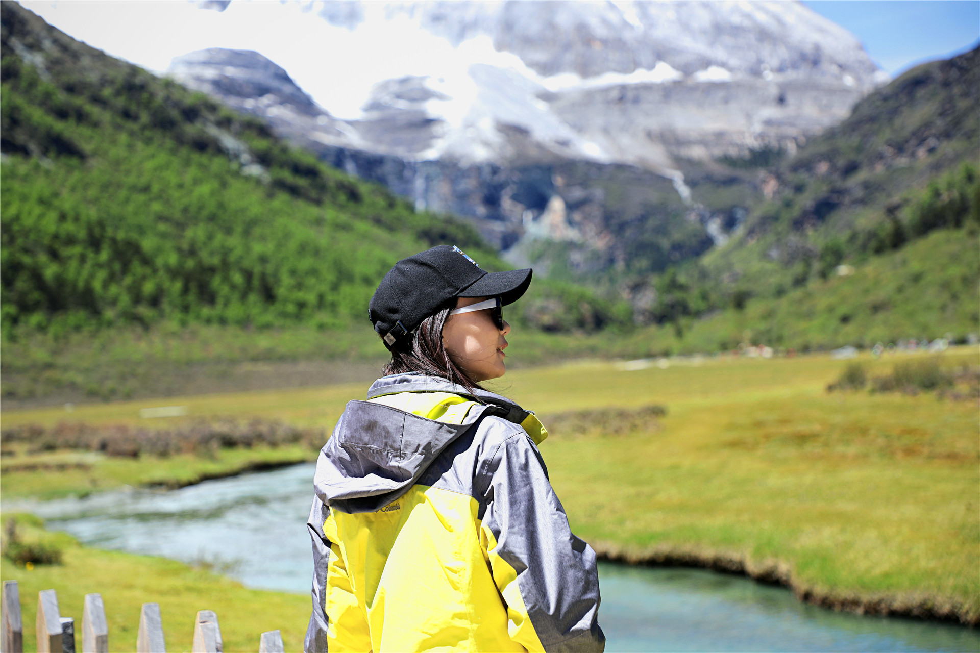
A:
MULTIPOLYGON (((528 227, 555 193, 515 200, 528 166, 633 165, 669 179, 694 206, 685 161, 792 151, 887 79, 852 34, 799 2, 311 8, 309 20, 362 36, 354 40, 365 52, 348 53, 351 62, 382 38, 397 40, 387 44, 395 57, 438 56, 412 74, 376 79, 350 119, 321 109, 257 53, 191 53, 170 73, 269 118, 325 160, 386 183, 419 207, 477 219, 504 248, 535 231, 528 227)), ((583 232, 574 219, 569 212, 562 233, 583 232)))

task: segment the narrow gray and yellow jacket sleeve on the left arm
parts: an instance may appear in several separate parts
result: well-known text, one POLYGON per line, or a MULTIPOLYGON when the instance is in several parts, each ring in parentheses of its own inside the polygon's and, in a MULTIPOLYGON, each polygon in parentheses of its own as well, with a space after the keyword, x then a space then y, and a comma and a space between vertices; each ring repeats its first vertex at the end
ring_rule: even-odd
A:
POLYGON ((307 522, 313 539, 313 614, 303 650, 369 651, 368 622, 358 605, 340 547, 323 530, 329 515, 330 509, 315 497, 307 522))

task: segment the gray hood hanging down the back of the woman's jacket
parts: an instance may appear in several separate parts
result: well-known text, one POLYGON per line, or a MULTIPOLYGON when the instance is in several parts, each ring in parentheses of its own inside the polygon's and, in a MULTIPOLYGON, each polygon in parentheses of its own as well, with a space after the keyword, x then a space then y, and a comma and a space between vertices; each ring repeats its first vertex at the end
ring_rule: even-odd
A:
POLYGON ((320 501, 331 509, 379 510, 415 485, 432 461, 483 417, 496 415, 520 424, 530 415, 504 396, 470 392, 417 373, 378 379, 368 390, 368 399, 394 393, 452 393, 480 403, 469 409, 462 423, 447 424, 369 400, 348 402, 320 449, 314 477, 320 501))

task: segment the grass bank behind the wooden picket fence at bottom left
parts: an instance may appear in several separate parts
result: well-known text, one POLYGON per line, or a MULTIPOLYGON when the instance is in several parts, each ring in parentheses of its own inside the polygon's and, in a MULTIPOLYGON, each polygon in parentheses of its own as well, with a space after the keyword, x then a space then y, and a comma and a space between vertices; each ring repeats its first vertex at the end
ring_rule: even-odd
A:
POLYGON ((37 592, 50 588, 58 591, 61 615, 74 618, 78 650, 84 595, 91 592, 102 594, 113 651, 136 650, 140 607, 150 602, 160 604, 164 637, 171 651, 190 650, 198 610, 218 613, 225 651, 257 650, 259 635, 276 629, 282 631, 287 651, 303 648, 309 596, 246 589, 241 583, 180 562, 79 546, 70 536, 41 533, 36 524, 36 520, 22 519, 21 530, 25 536, 46 536, 62 545, 63 565, 36 565, 27 570, 0 559, 0 577, 19 585, 25 651, 37 650, 37 592))

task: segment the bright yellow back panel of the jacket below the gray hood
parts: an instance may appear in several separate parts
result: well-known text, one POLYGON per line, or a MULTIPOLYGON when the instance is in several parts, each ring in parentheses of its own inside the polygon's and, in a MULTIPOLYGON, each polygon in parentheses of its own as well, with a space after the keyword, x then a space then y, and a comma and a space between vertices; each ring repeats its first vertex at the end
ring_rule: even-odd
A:
POLYGON ((377 512, 331 513, 324 533, 366 606, 371 650, 525 650, 480 546, 478 509, 466 494, 415 486, 377 512))

